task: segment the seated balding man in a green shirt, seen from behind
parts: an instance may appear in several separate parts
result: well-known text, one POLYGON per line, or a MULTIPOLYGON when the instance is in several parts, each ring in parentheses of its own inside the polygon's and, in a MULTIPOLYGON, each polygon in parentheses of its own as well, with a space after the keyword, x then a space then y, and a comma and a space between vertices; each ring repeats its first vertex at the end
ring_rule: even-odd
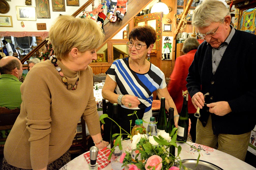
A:
POLYGON ((20 108, 21 92, 19 80, 22 76, 22 63, 13 56, 0 60, 0 106, 9 109, 20 108))

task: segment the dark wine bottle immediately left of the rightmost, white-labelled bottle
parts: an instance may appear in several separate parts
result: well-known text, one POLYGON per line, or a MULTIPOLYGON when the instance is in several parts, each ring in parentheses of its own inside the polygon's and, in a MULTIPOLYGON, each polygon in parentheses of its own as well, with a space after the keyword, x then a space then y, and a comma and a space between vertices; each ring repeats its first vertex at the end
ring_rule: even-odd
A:
MULTIPOLYGON (((169 135, 171 135, 174 127, 175 127, 174 126, 174 108, 169 108, 168 122, 167 122, 165 132, 169 133, 169 135)), ((175 158, 175 146, 173 146, 173 145, 170 146, 169 152, 170 152, 170 154, 172 154, 171 158, 174 159, 175 158)))

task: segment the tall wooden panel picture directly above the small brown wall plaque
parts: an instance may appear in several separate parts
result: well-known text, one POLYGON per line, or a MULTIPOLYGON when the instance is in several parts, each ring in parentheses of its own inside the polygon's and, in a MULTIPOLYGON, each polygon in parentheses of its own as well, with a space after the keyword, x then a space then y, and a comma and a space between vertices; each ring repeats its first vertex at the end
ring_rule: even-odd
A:
POLYGON ((36 0, 37 18, 51 18, 49 0, 36 0))

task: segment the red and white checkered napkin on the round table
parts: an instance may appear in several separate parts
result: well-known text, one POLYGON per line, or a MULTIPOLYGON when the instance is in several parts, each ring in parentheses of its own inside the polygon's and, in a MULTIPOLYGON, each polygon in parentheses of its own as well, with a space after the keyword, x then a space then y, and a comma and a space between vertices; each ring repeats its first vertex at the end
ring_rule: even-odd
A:
MULTIPOLYGON (((98 163, 98 170, 104 168, 105 166, 107 166, 110 162, 110 160, 108 160, 109 154, 110 154, 110 149, 107 149, 107 147, 99 150, 98 152, 98 156, 97 156, 97 163, 98 163)), ((87 152, 85 154, 83 154, 83 156, 85 157, 87 163, 90 163, 90 152, 87 152)))

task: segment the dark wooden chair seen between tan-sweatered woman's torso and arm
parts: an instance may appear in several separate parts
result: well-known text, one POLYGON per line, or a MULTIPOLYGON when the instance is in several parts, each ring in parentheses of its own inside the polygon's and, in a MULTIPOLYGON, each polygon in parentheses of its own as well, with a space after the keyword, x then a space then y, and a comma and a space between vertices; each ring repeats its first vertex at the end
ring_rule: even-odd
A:
POLYGON ((77 134, 73 140, 72 146, 69 148, 69 152, 71 154, 83 154, 84 152, 88 151, 87 148, 87 138, 90 135, 86 136, 86 123, 83 119, 83 115, 81 116, 81 121, 77 124, 77 134))

